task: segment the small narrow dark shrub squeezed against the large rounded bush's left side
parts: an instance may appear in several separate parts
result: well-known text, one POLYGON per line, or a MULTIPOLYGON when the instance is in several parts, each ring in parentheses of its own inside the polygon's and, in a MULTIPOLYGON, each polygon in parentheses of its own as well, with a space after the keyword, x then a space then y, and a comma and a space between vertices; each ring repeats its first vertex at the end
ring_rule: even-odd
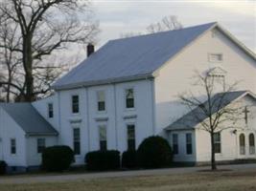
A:
POLYGON ((128 150, 125 151, 122 155, 122 167, 125 168, 135 168, 138 167, 137 162, 137 152, 128 150))

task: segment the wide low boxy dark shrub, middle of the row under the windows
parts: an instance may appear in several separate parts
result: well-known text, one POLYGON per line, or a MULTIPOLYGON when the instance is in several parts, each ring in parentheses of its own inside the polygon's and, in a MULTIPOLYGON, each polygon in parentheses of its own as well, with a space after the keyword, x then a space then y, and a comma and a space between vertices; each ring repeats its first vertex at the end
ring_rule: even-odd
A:
POLYGON ((88 170, 115 170, 120 168, 120 152, 93 151, 86 154, 84 161, 88 170))

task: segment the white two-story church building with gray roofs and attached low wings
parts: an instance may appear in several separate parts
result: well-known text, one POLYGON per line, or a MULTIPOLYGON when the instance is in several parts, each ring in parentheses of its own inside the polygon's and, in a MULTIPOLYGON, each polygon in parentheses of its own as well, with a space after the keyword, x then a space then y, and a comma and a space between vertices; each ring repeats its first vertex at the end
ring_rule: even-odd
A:
POLYGON ((124 152, 152 135, 168 139, 175 161, 210 161, 209 134, 199 123, 180 122, 191 112, 177 95, 198 92, 195 71, 241 81, 228 104, 253 106, 241 128, 216 135, 217 160, 256 159, 256 56, 218 23, 110 40, 93 50, 88 46, 87 59, 58 79, 53 96, 0 104, 0 160, 12 170, 40 165, 47 146, 69 145, 82 164, 87 152, 124 152))

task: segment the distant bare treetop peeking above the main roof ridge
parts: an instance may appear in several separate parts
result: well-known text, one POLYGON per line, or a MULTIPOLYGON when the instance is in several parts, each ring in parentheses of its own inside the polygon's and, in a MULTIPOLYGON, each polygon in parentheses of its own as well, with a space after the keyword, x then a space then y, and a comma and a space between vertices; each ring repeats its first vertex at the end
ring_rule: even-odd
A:
POLYGON ((165 16, 160 22, 151 24, 147 30, 150 33, 174 31, 182 29, 182 24, 175 15, 165 16))

